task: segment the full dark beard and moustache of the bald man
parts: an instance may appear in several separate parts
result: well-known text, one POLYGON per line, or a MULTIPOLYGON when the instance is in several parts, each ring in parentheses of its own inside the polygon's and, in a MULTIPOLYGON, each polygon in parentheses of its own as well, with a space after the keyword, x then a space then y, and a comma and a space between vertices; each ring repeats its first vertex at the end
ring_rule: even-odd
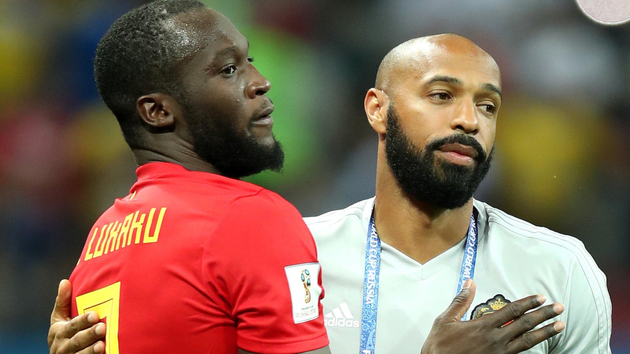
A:
POLYGON ((463 207, 488 174, 494 151, 493 147, 486 157, 481 144, 466 134, 433 140, 420 149, 404 134, 394 108, 391 106, 387 111, 387 165, 403 191, 418 202, 444 209, 463 207), (435 151, 452 143, 473 147, 478 154, 476 164, 461 166, 435 158, 435 151))

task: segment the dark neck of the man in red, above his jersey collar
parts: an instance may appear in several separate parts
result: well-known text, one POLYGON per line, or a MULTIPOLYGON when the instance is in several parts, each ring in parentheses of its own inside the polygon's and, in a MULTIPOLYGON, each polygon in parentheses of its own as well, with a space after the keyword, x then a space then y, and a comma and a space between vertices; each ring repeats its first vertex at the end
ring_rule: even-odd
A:
POLYGON ((138 166, 155 162, 173 163, 188 171, 221 174, 212 164, 199 157, 190 144, 183 141, 168 143, 166 146, 136 147, 131 150, 138 166))

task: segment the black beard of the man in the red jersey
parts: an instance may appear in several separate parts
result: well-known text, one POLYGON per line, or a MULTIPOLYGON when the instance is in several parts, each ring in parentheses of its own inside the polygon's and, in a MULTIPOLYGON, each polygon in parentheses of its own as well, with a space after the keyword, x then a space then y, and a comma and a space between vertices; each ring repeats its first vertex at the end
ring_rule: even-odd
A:
POLYGON ((255 137, 239 132, 230 117, 206 117, 191 105, 182 105, 194 150, 230 178, 243 178, 266 170, 279 172, 284 165, 282 144, 261 144, 255 137))

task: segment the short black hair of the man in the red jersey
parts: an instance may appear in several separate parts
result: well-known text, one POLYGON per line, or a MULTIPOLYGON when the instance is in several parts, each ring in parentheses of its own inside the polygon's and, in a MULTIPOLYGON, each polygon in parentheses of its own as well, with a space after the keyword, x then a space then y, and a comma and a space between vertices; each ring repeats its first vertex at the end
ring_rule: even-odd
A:
POLYGON ((130 147, 142 145, 136 100, 149 93, 178 94, 175 64, 200 45, 182 37, 182 31, 169 26, 168 20, 202 7, 205 5, 197 0, 144 4, 118 18, 98 43, 94 59, 96 87, 130 147))

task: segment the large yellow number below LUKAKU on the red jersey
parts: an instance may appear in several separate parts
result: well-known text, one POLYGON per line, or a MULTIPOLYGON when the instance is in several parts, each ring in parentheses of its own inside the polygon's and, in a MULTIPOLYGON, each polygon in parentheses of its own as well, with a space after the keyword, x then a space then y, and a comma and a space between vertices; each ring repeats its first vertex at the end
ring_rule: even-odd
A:
POLYGON ((77 296, 79 315, 94 311, 106 319, 105 353, 118 353, 118 309, 120 309, 120 282, 77 296))

